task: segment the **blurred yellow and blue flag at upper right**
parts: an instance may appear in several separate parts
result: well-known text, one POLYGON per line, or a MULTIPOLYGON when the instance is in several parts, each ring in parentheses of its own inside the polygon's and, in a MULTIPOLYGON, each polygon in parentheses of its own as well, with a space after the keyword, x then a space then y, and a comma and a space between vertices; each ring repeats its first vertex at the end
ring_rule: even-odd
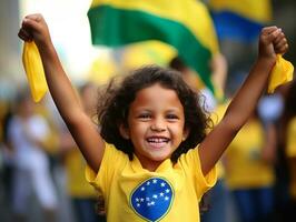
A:
POLYGON ((273 17, 270 0, 209 0, 208 6, 220 40, 253 42, 273 17))

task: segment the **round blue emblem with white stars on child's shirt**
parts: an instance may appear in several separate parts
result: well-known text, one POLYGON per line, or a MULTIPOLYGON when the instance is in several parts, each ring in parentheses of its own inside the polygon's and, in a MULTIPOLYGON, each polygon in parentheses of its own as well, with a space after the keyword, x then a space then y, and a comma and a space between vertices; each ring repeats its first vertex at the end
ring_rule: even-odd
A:
POLYGON ((172 200, 171 185, 162 178, 150 178, 132 192, 130 203, 141 218, 158 221, 168 213, 172 200))

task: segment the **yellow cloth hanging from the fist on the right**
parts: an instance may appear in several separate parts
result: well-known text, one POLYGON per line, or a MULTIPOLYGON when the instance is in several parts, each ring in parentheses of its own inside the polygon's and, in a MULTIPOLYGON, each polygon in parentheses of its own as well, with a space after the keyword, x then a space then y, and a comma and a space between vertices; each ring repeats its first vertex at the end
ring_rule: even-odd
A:
POLYGON ((268 83, 268 93, 273 93, 275 89, 293 79, 293 64, 285 60, 280 54, 276 57, 276 64, 273 68, 269 83, 268 83))

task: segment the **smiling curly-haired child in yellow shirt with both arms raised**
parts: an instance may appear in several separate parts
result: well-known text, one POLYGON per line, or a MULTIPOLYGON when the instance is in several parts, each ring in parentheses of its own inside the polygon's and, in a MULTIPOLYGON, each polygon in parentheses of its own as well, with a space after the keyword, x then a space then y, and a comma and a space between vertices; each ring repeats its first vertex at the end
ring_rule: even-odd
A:
POLYGON ((108 88, 99 101, 99 134, 72 90, 42 16, 27 16, 19 37, 38 46, 50 93, 90 167, 87 179, 105 198, 108 221, 199 221, 198 201, 215 183, 216 162, 253 113, 276 53, 287 50, 280 29, 263 29, 253 70, 207 135, 198 94, 178 72, 158 67, 139 69, 119 88, 108 88))

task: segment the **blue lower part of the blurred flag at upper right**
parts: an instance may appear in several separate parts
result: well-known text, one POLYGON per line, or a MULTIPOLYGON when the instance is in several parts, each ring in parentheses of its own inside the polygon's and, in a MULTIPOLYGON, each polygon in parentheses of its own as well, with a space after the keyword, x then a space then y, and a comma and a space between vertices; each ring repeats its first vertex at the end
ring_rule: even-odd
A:
POLYGON ((263 23, 251 21, 230 11, 211 12, 217 36, 220 40, 231 39, 243 42, 255 41, 263 23))

